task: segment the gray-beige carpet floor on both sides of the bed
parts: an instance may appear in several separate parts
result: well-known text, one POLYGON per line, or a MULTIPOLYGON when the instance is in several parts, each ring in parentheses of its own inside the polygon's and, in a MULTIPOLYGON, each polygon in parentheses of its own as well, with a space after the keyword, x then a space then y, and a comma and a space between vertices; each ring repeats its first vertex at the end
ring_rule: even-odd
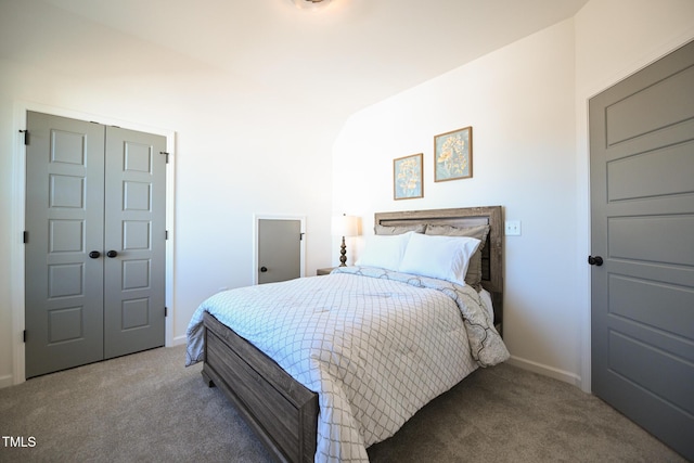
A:
MULTIPOLYGON (((162 348, 0 389, 2 462, 269 462, 183 347, 162 348)), ((421 410, 372 462, 684 462, 578 388, 502 364, 421 410)))

